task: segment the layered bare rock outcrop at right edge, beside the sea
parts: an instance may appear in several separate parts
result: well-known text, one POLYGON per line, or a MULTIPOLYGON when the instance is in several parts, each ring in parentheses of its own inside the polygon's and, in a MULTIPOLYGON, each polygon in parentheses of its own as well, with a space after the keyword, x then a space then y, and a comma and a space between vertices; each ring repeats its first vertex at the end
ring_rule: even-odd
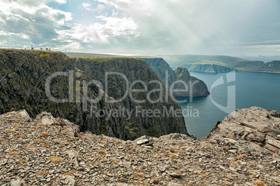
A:
POLYGON ((276 110, 258 107, 236 110, 218 122, 208 138, 247 140, 273 153, 280 151, 280 118, 276 110))

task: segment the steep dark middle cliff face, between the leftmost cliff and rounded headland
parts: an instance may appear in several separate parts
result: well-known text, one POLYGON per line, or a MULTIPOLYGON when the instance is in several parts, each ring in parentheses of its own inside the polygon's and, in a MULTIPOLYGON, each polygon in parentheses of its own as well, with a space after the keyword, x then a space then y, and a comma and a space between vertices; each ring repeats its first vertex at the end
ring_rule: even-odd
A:
MULTIPOLYGON (((119 75, 110 75, 107 78, 107 94, 115 100, 125 96, 128 91, 127 83, 131 86, 132 83, 141 81, 141 83, 134 84, 130 92, 135 89, 143 90, 143 83, 147 85, 146 92, 133 93, 131 96, 125 96, 123 101, 116 103, 118 108, 132 111, 131 118, 125 120, 129 117, 125 114, 120 119, 120 124, 133 138, 139 137, 139 135, 159 136, 175 132, 187 134, 182 115, 179 117, 168 116, 169 114, 166 112, 180 110, 180 105, 173 100, 157 74, 143 60, 132 58, 72 58, 72 60, 78 69, 85 71, 91 79, 100 81, 102 85, 105 85, 106 72, 123 74, 127 78, 127 82, 124 77, 119 75), (158 83, 150 83, 151 81, 157 81, 158 83), (161 87, 162 92, 155 91, 161 89, 161 87), (148 92, 151 92, 151 94, 148 92), (151 101, 148 101, 147 96, 151 101), (132 98, 137 101, 132 101, 132 98), (138 101, 144 101, 144 103, 137 103, 138 101), (152 103, 153 101, 156 103, 152 103), (155 117, 147 117, 147 110, 160 110, 160 113, 155 117), (139 111, 141 111, 141 114, 139 111)), ((107 134, 106 128, 102 128, 101 132, 107 134)))

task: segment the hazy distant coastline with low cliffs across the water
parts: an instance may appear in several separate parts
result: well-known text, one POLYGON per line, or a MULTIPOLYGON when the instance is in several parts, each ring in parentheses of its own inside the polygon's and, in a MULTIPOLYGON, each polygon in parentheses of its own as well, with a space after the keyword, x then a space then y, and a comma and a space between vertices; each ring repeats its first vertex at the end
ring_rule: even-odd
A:
POLYGON ((262 71, 280 73, 280 60, 272 62, 244 60, 231 56, 164 55, 173 68, 185 67, 188 71, 223 73, 229 71, 262 71))

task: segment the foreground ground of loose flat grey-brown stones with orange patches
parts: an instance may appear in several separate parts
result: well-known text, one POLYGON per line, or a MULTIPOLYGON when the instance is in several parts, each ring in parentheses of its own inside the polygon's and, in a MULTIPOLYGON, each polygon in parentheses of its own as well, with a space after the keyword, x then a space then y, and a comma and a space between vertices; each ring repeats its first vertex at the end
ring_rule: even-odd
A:
POLYGON ((123 141, 22 110, 0 115, 0 133, 0 185, 280 185, 277 152, 214 131, 123 141))

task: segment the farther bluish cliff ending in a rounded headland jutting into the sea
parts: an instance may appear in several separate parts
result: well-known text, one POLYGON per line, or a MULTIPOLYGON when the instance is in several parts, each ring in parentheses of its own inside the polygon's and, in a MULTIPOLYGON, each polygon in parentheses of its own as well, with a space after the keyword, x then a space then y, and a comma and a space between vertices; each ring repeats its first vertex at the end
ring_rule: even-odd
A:
POLYGON ((176 81, 185 82, 175 83, 173 90, 186 90, 180 92, 173 92, 173 96, 207 96, 208 92, 207 85, 198 78, 189 75, 189 71, 183 67, 178 67, 175 71, 171 69, 168 63, 163 58, 141 58, 145 60, 150 67, 155 71, 157 76, 160 77, 164 85, 168 85, 169 89, 172 84, 176 81), (168 83, 166 83, 166 71, 168 72, 168 83), (187 87, 187 88, 186 88, 187 87))

